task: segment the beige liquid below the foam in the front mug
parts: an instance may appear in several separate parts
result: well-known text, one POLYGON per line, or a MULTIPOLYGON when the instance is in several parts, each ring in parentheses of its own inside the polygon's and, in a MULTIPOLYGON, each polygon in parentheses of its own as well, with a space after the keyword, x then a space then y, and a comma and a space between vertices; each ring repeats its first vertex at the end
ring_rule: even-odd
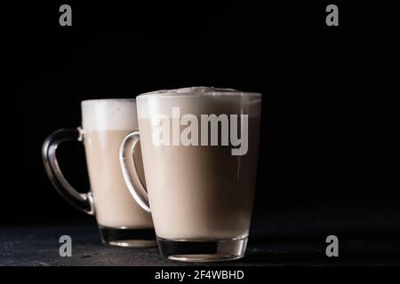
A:
POLYGON ((249 118, 248 152, 233 156, 232 146, 155 146, 150 121, 140 119, 148 196, 158 237, 222 240, 248 235, 259 128, 260 118, 249 118))

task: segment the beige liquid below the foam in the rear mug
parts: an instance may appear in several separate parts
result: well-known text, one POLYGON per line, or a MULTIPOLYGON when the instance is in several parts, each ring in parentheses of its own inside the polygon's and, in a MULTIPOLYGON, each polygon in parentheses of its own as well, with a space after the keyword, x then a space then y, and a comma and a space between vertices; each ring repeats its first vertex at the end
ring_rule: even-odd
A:
MULTIPOLYGON (((133 200, 121 172, 119 148, 127 132, 129 130, 85 132, 84 147, 95 215, 102 226, 151 228, 153 224, 150 215, 133 200)), ((135 161, 140 177, 144 177, 141 157, 135 157, 135 161)))

